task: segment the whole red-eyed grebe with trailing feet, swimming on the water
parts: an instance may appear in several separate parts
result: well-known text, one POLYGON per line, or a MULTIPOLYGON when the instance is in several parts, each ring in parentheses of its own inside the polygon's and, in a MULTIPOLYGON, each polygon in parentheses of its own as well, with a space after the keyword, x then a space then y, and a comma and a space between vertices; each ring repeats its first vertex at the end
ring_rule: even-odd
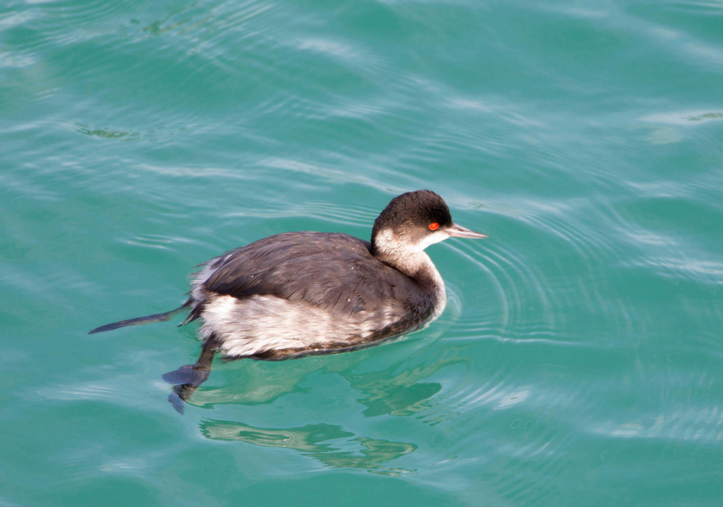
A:
POLYGON ((418 190, 396 196, 372 228, 372 242, 341 233, 282 233, 215 257, 194 275, 180 308, 101 326, 168 321, 190 308, 203 319, 194 365, 163 378, 182 412, 208 378, 211 360, 283 360, 377 345, 425 324, 447 303, 445 284, 424 248, 450 236, 487 238, 452 222, 440 196, 418 190), (176 397, 177 395, 177 397, 176 397))

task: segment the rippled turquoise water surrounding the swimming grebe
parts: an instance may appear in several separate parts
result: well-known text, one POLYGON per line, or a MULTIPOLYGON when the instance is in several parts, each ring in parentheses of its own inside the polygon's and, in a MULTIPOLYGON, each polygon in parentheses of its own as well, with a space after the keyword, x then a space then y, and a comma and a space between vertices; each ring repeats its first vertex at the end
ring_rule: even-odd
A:
POLYGON ((720 506, 722 97, 714 0, 5 0, 0 506, 720 506), (417 188, 422 332, 184 416, 196 327, 86 334, 417 188))

